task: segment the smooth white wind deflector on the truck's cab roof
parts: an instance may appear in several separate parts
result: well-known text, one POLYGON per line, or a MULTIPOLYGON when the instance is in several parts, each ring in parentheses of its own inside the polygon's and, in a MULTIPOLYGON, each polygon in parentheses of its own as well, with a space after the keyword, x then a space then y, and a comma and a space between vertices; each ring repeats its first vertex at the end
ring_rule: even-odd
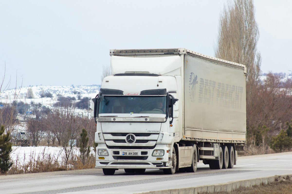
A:
POLYGON ((125 72, 149 72, 163 75, 182 66, 180 56, 168 57, 121 57, 111 56, 112 74, 125 72))

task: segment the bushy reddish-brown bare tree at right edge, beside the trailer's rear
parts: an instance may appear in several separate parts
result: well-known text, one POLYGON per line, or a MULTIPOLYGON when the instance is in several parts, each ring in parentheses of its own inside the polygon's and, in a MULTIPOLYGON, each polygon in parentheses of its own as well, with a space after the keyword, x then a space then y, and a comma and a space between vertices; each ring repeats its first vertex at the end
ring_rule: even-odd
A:
POLYGON ((291 79, 268 73, 263 84, 253 88, 247 103, 247 144, 263 147, 267 153, 272 136, 286 128, 292 118, 291 79))

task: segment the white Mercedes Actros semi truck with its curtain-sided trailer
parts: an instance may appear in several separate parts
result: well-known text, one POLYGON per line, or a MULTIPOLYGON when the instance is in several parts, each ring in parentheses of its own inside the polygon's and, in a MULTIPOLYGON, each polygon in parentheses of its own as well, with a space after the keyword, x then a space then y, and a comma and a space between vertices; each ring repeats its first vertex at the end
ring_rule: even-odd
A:
POLYGON ((188 49, 110 50, 93 99, 95 168, 233 168, 246 142, 246 67, 188 49))

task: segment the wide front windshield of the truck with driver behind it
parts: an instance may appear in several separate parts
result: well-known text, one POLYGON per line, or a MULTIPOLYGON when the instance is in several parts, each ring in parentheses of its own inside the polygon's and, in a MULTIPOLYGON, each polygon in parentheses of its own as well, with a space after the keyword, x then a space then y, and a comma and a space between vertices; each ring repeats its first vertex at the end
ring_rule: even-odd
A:
POLYGON ((98 113, 166 114, 166 96, 102 96, 98 113))

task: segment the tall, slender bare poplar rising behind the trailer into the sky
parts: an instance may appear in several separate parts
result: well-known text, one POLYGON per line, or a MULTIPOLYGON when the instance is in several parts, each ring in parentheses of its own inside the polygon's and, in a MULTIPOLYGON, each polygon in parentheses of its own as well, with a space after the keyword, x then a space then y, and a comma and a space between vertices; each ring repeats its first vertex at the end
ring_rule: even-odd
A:
POLYGON ((246 65, 247 79, 260 76, 260 53, 257 52, 258 24, 253 0, 229 0, 219 26, 215 55, 218 58, 246 65))

